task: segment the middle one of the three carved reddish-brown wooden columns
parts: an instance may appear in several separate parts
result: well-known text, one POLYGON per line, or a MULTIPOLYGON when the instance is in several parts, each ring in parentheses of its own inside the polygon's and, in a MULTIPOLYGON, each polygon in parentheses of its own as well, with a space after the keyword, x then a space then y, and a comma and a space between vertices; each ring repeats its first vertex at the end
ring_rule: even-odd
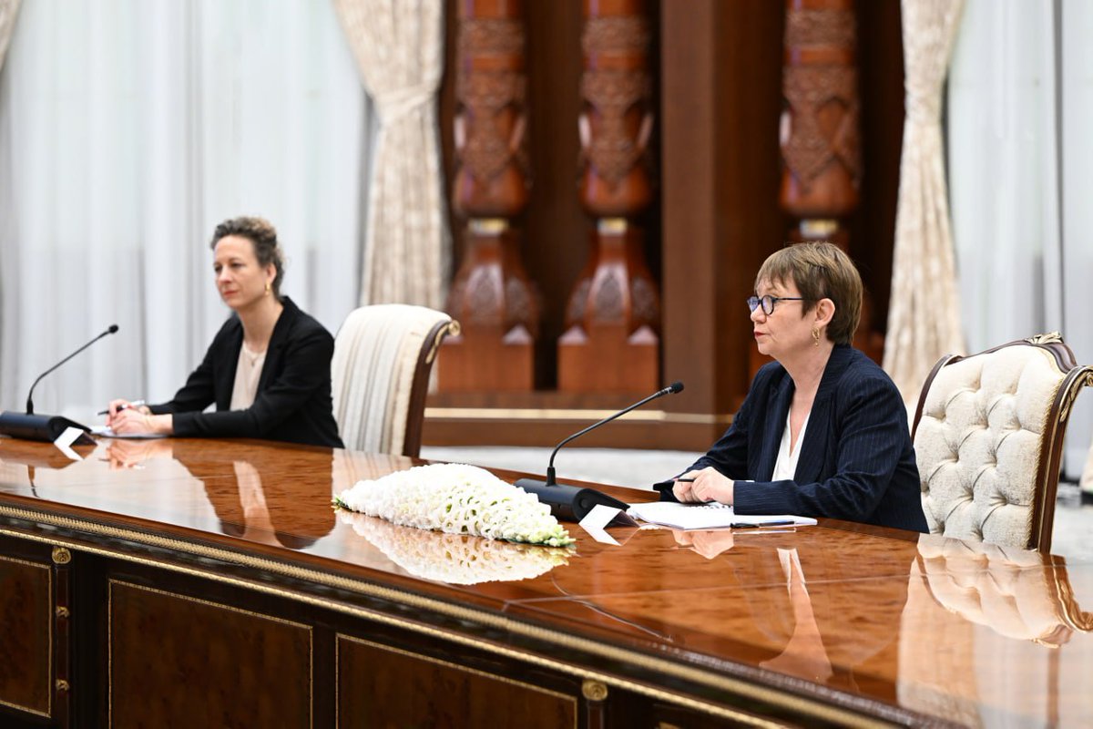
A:
POLYGON ((636 217, 653 199, 649 24, 642 0, 585 0, 580 201, 596 216, 559 339, 559 389, 659 386, 660 296, 636 217))

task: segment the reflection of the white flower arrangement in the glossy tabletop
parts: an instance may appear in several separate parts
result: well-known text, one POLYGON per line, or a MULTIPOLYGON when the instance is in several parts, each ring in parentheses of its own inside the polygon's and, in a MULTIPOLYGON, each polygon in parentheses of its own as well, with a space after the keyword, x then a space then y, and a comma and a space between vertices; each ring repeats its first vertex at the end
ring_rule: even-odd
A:
POLYGON ((568 550, 426 532, 344 510, 338 518, 411 575, 449 585, 531 579, 568 564, 568 550))

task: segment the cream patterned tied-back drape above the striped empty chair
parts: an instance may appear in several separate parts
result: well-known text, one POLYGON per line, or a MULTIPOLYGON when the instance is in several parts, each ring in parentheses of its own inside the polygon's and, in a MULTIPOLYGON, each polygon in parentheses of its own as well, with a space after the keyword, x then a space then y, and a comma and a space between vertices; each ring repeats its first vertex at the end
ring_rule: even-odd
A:
POLYGON ((334 0, 379 126, 368 181, 361 304, 440 308, 450 246, 436 93, 443 0, 334 0))

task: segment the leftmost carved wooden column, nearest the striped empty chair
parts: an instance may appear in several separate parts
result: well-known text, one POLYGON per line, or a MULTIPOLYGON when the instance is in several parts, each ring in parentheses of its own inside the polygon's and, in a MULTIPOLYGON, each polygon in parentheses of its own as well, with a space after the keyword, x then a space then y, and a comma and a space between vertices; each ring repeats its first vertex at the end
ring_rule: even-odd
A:
POLYGON ((460 0, 453 207, 467 217, 438 364, 448 391, 530 390, 540 304, 514 219, 528 201, 521 0, 460 0))

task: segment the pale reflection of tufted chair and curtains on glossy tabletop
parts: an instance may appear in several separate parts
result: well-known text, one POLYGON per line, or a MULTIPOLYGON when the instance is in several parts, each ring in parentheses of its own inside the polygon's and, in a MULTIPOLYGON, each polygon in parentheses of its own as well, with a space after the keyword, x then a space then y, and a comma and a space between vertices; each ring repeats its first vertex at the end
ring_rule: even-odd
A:
POLYGON ((922 534, 901 628, 901 703, 967 726, 1088 724, 1059 702, 1070 682, 1060 677, 1093 668, 1067 650, 1076 636, 1088 639, 1093 615, 1076 601, 1061 557, 922 534))

